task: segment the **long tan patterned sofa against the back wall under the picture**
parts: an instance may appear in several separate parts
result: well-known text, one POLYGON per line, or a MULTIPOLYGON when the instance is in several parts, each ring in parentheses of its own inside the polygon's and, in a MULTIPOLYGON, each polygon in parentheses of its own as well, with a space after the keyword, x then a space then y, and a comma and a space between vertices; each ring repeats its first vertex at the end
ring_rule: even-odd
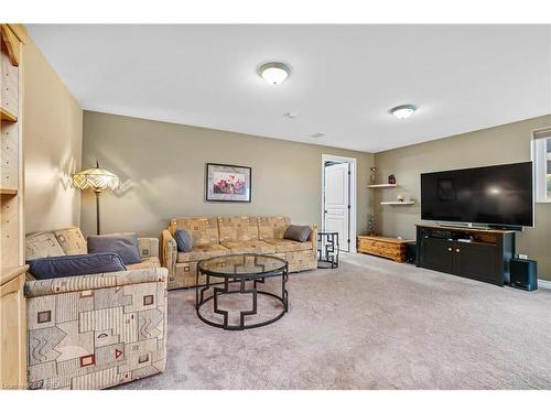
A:
MULTIPOLYGON (((169 290, 196 284, 197 263, 207 258, 256 252, 277 256, 289 262, 289 271, 317 267, 316 226, 307 242, 283 239, 291 225, 287 217, 212 217, 174 218, 162 232, 162 263, 169 269, 169 290), (176 229, 186 229, 193 238, 191 252, 179 252, 173 237, 176 229)), ((199 284, 205 280, 201 279, 199 284)))

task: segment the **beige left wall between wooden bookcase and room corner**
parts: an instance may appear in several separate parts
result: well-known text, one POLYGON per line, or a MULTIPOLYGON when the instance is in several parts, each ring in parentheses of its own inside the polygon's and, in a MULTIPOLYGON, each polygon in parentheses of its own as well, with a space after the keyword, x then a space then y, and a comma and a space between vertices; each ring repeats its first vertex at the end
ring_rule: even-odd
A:
POLYGON ((25 232, 78 226, 83 110, 31 40, 23 59, 25 232))

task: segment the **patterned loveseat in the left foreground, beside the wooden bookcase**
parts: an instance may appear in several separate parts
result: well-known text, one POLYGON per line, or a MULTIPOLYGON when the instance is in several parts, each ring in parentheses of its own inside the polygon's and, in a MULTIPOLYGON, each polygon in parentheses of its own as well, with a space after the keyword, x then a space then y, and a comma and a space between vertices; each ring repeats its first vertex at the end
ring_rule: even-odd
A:
MULTIPOLYGON (((87 253, 80 229, 26 236, 26 259, 87 253)), ((105 389, 164 371, 166 269, 139 239, 127 271, 25 283, 30 389, 105 389)))

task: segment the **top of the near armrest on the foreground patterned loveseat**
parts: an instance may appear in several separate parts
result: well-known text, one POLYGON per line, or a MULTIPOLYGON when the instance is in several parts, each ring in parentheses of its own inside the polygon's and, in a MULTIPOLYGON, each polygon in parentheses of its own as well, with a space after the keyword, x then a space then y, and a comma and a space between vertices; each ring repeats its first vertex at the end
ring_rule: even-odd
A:
POLYGON ((168 271, 164 268, 148 268, 131 271, 104 272, 100 274, 64 276, 60 279, 32 280, 25 282, 25 297, 31 298, 151 282, 166 283, 168 275, 168 271))

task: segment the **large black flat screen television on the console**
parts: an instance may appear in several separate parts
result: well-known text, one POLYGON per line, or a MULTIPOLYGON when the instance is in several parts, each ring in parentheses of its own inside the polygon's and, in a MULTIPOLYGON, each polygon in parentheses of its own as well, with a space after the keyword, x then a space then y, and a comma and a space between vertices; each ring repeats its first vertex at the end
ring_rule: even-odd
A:
POLYGON ((533 226, 532 163, 421 174, 421 218, 533 226))

